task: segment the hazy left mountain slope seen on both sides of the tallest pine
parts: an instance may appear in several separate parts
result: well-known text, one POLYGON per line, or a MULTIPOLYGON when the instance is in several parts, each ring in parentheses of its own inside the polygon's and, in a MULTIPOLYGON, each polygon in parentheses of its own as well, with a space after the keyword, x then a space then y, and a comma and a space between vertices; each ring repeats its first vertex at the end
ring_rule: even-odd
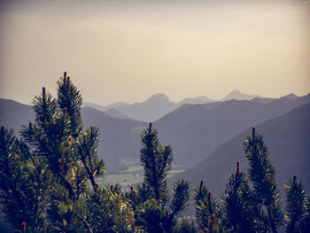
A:
MULTIPOLYGON (((22 125, 35 120, 31 105, 0 98, 0 125, 13 128, 19 136, 22 125)), ((113 118, 91 107, 81 108, 84 127, 100 130, 98 155, 105 160, 109 173, 126 169, 139 161, 140 135, 147 124, 137 120, 113 118)))

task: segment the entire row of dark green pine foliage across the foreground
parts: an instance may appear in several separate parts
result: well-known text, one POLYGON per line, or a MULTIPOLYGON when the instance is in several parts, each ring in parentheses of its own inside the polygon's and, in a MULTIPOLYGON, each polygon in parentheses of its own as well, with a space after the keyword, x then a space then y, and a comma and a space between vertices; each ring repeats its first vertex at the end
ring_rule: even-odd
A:
MULTIPOLYGON (((124 193, 119 185, 99 186, 97 178, 105 175, 99 130, 83 129, 81 94, 66 73, 57 83, 57 98, 45 88, 35 97, 35 121, 22 128, 22 139, 12 129, 0 130, 0 206, 15 232, 275 233, 282 225, 275 167, 254 128, 244 140, 250 169, 246 174, 237 164, 223 205, 201 182, 193 191, 197 220, 181 219, 190 184, 176 181, 169 194, 173 150, 159 143, 151 123, 141 136, 144 182, 124 193)), ((287 232, 307 232, 310 203, 301 181, 295 176, 285 189, 287 232)))

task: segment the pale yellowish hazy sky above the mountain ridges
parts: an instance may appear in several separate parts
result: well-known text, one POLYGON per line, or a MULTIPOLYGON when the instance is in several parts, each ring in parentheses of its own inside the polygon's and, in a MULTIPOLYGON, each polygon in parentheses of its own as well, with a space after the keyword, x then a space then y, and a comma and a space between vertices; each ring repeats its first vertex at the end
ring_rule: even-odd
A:
POLYGON ((1 1, 0 97, 55 94, 67 71, 85 102, 221 99, 233 89, 310 92, 309 1, 1 1), (221 2, 219 4, 218 2, 221 2))

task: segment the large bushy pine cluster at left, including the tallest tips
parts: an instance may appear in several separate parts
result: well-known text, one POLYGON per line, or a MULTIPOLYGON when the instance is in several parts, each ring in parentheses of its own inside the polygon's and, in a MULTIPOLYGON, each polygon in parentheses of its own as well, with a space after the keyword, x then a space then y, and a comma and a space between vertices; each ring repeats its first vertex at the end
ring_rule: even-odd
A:
POLYGON ((58 98, 45 88, 35 97, 35 121, 21 130, 26 144, 1 128, 0 202, 12 228, 89 233, 133 229, 128 200, 96 181, 105 175, 105 163, 97 156, 99 131, 83 130, 81 102, 65 73, 58 81, 58 98))

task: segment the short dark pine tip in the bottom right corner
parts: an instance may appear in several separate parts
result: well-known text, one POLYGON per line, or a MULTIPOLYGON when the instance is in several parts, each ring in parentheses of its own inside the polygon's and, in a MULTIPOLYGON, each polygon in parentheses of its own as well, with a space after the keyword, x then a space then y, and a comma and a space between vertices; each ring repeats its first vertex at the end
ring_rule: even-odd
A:
POLYGON ((306 197, 303 183, 294 175, 284 185, 287 195, 286 231, 291 233, 306 232, 310 227, 309 198, 306 197))

